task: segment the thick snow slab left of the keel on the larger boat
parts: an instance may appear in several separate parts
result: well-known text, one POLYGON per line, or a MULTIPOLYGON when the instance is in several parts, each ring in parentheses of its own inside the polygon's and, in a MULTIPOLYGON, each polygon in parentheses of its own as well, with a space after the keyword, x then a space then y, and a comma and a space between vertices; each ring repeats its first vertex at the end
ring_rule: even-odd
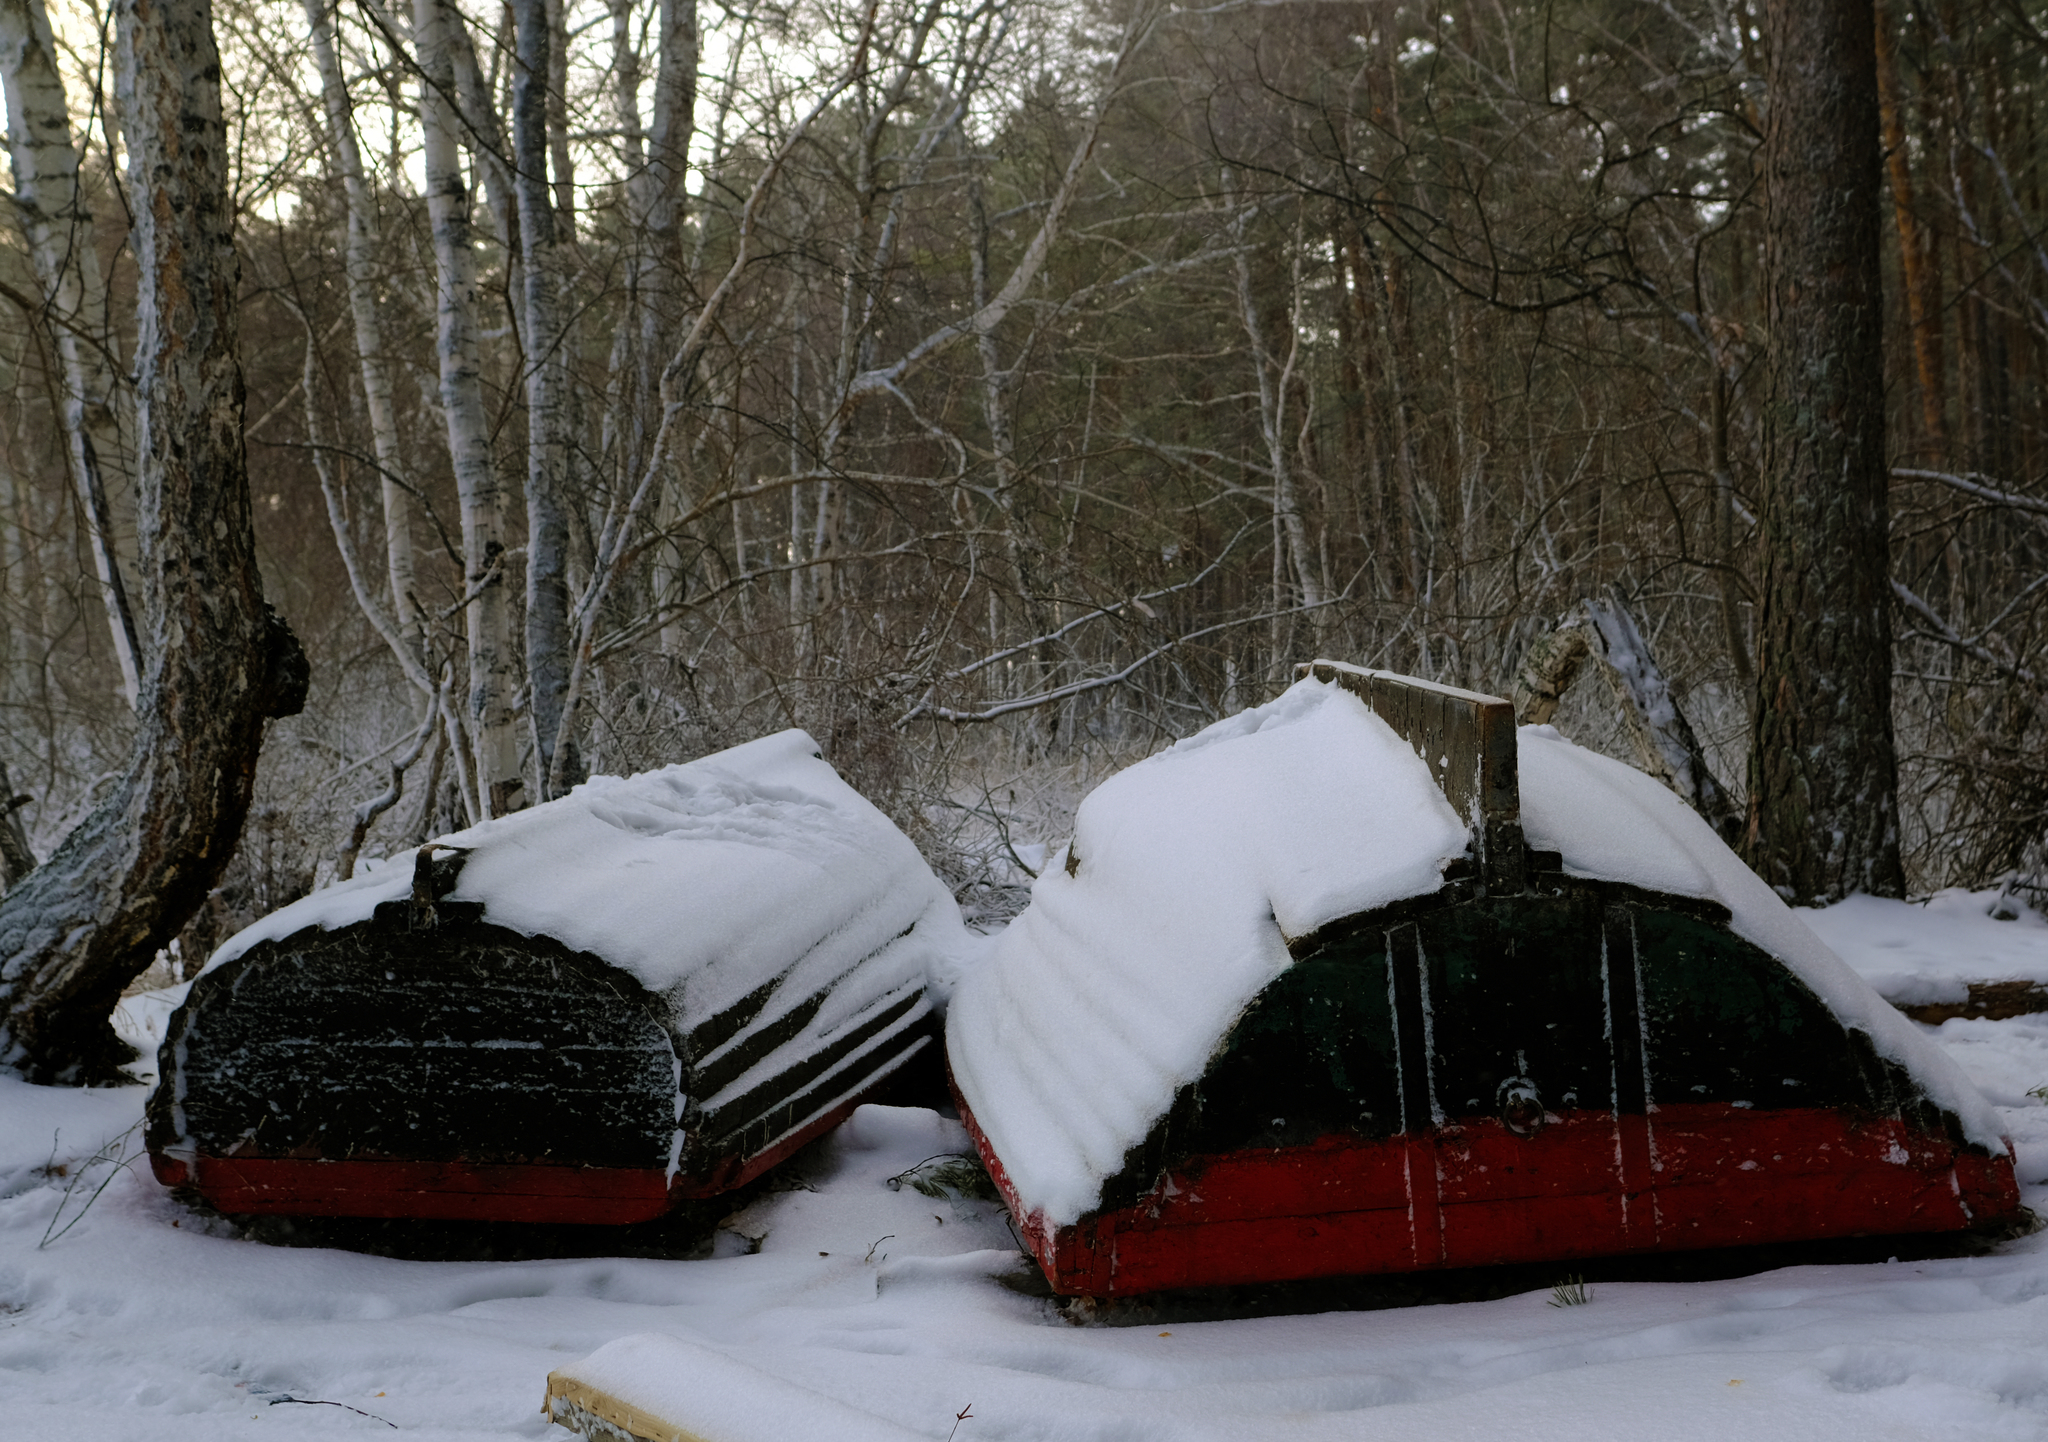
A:
POLYGON ((1305 680, 1102 782, 952 998, 952 1075, 1063 1225, 1288 965, 1286 936, 1444 885, 1466 830, 1352 692, 1305 680))

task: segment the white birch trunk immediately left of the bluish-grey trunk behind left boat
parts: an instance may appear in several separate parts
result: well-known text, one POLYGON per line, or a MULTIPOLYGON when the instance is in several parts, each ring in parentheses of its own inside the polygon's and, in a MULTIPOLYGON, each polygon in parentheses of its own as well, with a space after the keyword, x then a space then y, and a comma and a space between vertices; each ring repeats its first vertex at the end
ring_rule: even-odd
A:
POLYGON ((504 494, 492 465, 489 420, 477 365, 477 262, 469 238, 469 186, 449 96, 446 0, 414 0, 420 47, 420 125, 426 143, 426 211, 434 227, 436 348, 449 459, 463 508, 465 621, 469 629, 469 731, 475 737, 475 803, 483 817, 512 809, 520 789, 512 735, 512 619, 504 584, 504 494))

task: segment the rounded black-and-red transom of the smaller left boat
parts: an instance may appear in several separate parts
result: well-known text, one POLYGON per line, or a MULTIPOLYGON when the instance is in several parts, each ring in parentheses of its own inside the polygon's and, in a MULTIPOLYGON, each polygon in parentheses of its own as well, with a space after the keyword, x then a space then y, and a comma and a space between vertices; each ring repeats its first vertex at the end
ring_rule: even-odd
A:
POLYGON ((307 928, 195 983, 147 1141, 227 1213, 645 1221, 676 1065, 657 998, 545 936, 307 928))

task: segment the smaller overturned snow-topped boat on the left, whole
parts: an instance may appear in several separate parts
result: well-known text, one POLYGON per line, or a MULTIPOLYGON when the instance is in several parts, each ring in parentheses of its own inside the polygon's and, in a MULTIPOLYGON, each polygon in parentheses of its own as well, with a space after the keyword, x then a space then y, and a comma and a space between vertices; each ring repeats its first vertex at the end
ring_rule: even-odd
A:
POLYGON ((647 1221, 934 1045, 961 934, 803 731, 600 776, 221 946, 166 1028, 150 1159, 223 1213, 647 1221))

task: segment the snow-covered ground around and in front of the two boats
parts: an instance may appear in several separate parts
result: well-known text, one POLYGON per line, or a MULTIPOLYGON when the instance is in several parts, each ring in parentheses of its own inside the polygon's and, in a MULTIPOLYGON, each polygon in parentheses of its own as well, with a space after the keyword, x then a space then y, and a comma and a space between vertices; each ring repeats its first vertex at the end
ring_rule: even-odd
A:
MULTIPOLYGON (((1976 959, 2048 975, 2048 924, 1974 901, 1819 922, 1870 977, 1987 979, 1976 959)), ((137 1041, 162 1034, 164 1002, 125 1006, 137 1041)), ((2048 1106, 2030 1096, 2048 1016, 1927 1030, 1999 1106, 2048 1215, 2048 1106)), ((0 1438, 567 1440, 541 1419, 547 1372, 637 1333, 676 1340, 668 1387, 731 1403, 729 1442, 852 1436, 836 1405, 862 1434, 954 1442, 2048 1438, 2048 1233, 1980 1258, 1602 1282, 1567 1309, 1544 1288, 1075 1327, 995 1280, 1020 1260, 991 1202, 887 1186, 965 1147, 932 1112, 864 1108, 709 1260, 397 1262, 182 1211, 133 1161, 141 1102, 0 1079, 0 1438), (133 1163, 88 1165, 104 1153, 133 1163)))

